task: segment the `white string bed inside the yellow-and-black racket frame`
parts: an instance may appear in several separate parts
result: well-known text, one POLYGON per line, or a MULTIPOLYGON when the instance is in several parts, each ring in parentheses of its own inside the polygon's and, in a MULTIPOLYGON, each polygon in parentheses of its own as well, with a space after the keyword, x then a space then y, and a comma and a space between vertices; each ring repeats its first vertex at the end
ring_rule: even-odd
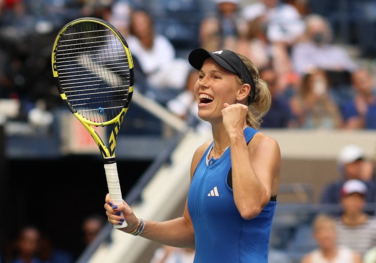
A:
POLYGON ((127 102, 130 69, 123 43, 105 25, 81 22, 61 36, 59 81, 71 106, 96 123, 115 118, 127 102))

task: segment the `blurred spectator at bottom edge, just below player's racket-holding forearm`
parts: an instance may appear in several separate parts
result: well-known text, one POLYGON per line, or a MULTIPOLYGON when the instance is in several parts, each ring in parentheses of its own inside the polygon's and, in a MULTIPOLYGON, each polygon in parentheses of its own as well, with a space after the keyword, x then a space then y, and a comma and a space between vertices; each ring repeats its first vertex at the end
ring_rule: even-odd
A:
POLYGON ((176 248, 163 245, 158 248, 150 263, 192 263, 194 250, 191 248, 176 248))

